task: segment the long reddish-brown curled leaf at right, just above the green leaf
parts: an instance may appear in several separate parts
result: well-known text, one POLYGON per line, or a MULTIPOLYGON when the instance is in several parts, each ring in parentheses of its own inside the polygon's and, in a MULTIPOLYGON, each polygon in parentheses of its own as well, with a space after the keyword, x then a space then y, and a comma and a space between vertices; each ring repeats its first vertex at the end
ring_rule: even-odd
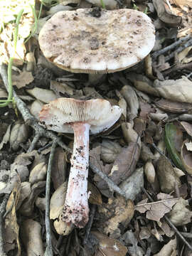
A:
POLYGON ((192 109, 192 105, 190 103, 172 102, 171 100, 165 99, 156 100, 155 105, 161 110, 171 113, 186 113, 192 109))

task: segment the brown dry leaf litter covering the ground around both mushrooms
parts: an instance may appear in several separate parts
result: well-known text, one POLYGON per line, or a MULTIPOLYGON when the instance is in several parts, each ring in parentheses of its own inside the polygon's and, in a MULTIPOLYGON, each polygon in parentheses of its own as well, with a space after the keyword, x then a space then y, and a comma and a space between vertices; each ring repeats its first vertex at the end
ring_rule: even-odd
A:
MULTIPOLYGON (((56 6, 50 1, 41 2, 46 6, 42 6, 43 13, 38 19, 41 26, 48 15, 64 7, 72 10, 101 6, 101 1, 91 0, 60 1, 56 6)), ((96 80, 94 87, 89 85, 86 74, 68 73, 48 63, 36 41, 39 28, 23 43, 37 25, 26 1, 13 1, 12 8, 5 2, 2 6, 6 15, 0 21, 0 55, 6 64, 14 45, 14 21, 21 7, 24 8, 12 80, 16 95, 26 104, 18 111, 15 97, 13 104, 9 103, 0 112, 1 127, 4 125, 0 134, 1 201, 5 194, 10 195, 4 223, 0 223, 6 228, 0 251, 7 255, 46 253, 46 233, 49 234, 48 230, 43 232, 46 174, 53 137, 34 129, 35 121, 28 118, 26 106, 38 119, 43 104, 58 97, 104 98, 119 104, 123 115, 109 132, 90 137, 90 165, 112 183, 104 180, 100 172, 95 174, 90 170, 90 221, 83 231, 60 218, 73 137, 57 134, 58 142, 62 139, 65 146, 61 149, 58 144, 52 165, 52 255, 174 256, 176 250, 190 254, 191 1, 124 1, 122 5, 120 1, 103 0, 103 3, 107 9, 138 9, 153 17, 156 45, 145 63, 104 75, 96 80), (33 129, 28 129, 31 124, 33 129), (59 189, 60 196, 55 196, 59 189), (170 228, 167 218, 175 228, 170 228), (87 242, 83 242, 85 234, 87 242)), ((41 4, 35 6, 31 1, 31 5, 38 14, 41 4)), ((3 79, 0 87, 4 92, 3 79)), ((4 99, 6 94, 2 93, 1 100, 4 99)))

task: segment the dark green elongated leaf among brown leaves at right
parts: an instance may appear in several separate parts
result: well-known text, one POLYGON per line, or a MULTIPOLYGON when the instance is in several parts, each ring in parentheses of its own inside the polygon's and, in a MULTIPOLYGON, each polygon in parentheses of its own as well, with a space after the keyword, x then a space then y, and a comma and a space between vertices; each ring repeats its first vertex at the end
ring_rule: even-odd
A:
POLYGON ((181 170, 184 170, 183 164, 181 162, 180 155, 176 150, 174 142, 176 141, 178 129, 176 125, 169 123, 165 126, 165 144, 166 149, 171 157, 172 161, 181 170))

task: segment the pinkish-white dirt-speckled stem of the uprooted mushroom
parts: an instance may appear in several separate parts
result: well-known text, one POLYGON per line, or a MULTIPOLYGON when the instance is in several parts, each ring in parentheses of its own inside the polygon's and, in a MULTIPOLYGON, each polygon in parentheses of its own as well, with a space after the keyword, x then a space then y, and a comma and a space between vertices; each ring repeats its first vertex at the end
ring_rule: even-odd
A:
POLYGON ((74 145, 62 218, 66 223, 83 228, 89 218, 87 176, 90 124, 74 122, 71 126, 74 130, 74 145))

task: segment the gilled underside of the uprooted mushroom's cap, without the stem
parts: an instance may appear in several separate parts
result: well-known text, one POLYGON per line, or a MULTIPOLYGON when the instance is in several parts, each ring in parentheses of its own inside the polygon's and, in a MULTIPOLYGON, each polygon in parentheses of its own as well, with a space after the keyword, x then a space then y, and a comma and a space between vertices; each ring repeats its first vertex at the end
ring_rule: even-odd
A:
POLYGON ((41 123, 55 132, 73 133, 70 124, 90 124, 90 133, 96 134, 112 127, 122 114, 119 106, 112 106, 107 100, 75 100, 58 98, 44 105, 39 117, 41 123))

